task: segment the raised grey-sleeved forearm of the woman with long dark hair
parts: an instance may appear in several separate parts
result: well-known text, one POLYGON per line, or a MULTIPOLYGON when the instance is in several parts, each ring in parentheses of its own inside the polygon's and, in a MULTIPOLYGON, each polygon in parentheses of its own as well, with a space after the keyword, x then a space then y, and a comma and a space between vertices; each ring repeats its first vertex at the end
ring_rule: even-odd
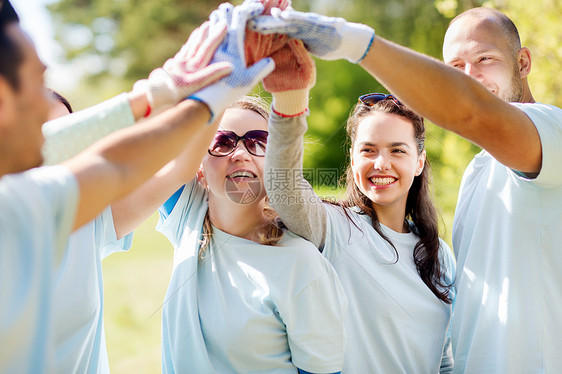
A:
POLYGON ((326 238, 326 210, 302 175, 305 132, 306 115, 270 116, 265 187, 271 206, 287 228, 321 249, 326 238))

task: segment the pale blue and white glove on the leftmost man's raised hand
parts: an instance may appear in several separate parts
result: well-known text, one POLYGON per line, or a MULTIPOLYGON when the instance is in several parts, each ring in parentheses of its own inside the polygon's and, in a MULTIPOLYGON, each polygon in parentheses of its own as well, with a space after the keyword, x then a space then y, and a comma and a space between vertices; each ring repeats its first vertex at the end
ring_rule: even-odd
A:
POLYGON ((244 55, 246 22, 248 18, 262 12, 263 4, 245 2, 237 7, 224 3, 211 13, 211 28, 214 24, 224 21, 228 24, 228 34, 211 62, 229 62, 233 70, 229 76, 196 92, 190 98, 207 104, 213 116, 219 115, 228 105, 250 92, 260 80, 275 69, 272 58, 263 58, 249 68, 246 67, 244 55))

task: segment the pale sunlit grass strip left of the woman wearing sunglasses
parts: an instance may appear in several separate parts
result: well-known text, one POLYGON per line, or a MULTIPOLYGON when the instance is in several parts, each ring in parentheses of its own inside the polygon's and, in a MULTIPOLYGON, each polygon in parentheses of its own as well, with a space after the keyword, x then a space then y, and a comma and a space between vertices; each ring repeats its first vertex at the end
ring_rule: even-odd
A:
POLYGON ((154 230, 157 215, 136 231, 129 252, 103 262, 105 331, 112 374, 159 373, 162 301, 172 246, 154 230))

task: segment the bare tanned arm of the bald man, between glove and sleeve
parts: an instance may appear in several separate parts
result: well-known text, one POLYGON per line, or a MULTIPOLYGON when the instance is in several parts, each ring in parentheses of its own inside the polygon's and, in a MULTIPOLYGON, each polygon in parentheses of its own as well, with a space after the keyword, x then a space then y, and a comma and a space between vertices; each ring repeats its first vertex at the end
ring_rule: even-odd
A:
POLYGON ((530 119, 463 72, 380 37, 360 65, 421 116, 504 165, 540 170, 540 139, 530 119))

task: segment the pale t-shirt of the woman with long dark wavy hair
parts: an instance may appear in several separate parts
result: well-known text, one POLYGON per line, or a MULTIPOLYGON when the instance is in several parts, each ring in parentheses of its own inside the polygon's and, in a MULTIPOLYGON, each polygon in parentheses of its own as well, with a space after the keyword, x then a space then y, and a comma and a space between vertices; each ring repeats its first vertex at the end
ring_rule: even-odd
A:
MULTIPOLYGON (((345 373, 437 373, 445 344, 451 304, 439 300, 421 280, 413 260, 419 237, 383 232, 398 251, 372 227, 371 218, 325 204, 327 231, 323 254, 334 266, 349 301, 345 373)), ((441 241, 446 284, 455 261, 441 241)), ((455 290, 450 290, 454 299, 455 290)))

